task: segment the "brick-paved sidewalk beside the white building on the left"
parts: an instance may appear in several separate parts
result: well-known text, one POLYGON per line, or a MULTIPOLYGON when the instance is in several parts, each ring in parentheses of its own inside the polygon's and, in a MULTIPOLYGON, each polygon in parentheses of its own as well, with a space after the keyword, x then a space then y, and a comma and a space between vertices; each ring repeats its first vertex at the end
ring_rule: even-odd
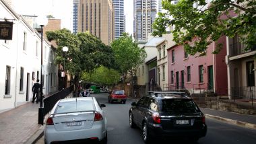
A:
POLYGON ((26 143, 40 129, 38 108, 40 104, 28 102, 0 114, 0 143, 26 143))

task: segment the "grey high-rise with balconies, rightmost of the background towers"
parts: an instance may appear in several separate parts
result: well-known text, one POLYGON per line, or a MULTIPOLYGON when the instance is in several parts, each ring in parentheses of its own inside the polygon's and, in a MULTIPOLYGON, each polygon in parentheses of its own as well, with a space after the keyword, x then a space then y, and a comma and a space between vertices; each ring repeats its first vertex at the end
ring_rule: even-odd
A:
POLYGON ((135 40, 147 40, 156 18, 157 0, 133 0, 133 32, 135 40))

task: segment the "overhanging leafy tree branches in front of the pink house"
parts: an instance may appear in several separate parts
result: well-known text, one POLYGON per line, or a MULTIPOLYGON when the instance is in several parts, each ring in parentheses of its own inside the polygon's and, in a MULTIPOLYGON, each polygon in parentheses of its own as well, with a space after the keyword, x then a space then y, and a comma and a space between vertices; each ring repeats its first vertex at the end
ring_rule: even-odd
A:
MULTIPOLYGON (((232 38, 238 34, 247 49, 255 46, 256 0, 180 0, 176 5, 170 1, 162 1, 166 12, 158 13, 154 36, 161 36, 166 27, 175 26, 174 41, 183 44, 191 55, 205 54, 207 46, 224 35, 232 38)), ((218 46, 220 50, 221 45, 218 46)))

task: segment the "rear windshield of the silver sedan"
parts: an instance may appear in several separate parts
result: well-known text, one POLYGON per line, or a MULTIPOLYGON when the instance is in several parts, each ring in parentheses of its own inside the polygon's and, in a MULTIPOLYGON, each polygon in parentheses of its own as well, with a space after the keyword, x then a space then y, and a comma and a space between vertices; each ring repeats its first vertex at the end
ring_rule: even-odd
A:
POLYGON ((55 113, 77 112, 94 110, 94 102, 92 100, 74 100, 69 102, 59 102, 55 113))

